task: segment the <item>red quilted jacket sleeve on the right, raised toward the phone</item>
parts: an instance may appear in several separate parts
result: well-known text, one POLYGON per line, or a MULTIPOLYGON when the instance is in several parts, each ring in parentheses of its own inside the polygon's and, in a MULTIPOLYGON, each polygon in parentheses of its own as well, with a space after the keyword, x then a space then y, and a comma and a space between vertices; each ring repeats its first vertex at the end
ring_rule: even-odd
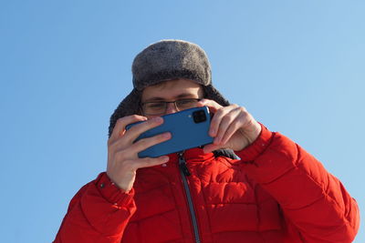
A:
POLYGON ((262 126, 255 142, 235 152, 245 173, 276 198, 285 221, 306 242, 352 242, 359 208, 338 178, 289 138, 262 126))

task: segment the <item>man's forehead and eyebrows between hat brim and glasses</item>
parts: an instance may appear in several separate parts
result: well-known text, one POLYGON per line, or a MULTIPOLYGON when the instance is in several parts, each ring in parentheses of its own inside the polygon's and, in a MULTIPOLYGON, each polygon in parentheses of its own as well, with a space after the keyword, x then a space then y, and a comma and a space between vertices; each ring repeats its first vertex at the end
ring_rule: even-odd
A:
POLYGON ((165 81, 143 89, 141 101, 150 99, 174 99, 182 96, 202 97, 203 87, 189 79, 165 81))

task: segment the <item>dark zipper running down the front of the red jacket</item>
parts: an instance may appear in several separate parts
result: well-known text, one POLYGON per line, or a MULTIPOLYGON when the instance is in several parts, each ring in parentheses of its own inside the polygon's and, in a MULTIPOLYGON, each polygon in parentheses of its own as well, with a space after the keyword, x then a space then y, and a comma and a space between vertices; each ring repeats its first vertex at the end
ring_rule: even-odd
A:
POLYGON ((200 236, 199 236, 199 230, 198 230, 198 223, 196 221, 195 211, 193 208, 193 198, 190 193, 190 187, 188 185, 188 180, 186 178, 186 177, 189 177, 191 175, 191 173, 190 173, 188 167, 186 167, 186 161, 183 158, 183 152, 178 153, 178 156, 179 156, 180 175, 183 178, 183 187, 185 189, 186 198, 188 199, 189 212, 190 212, 190 216, 192 218, 195 242, 201 243, 200 236))

